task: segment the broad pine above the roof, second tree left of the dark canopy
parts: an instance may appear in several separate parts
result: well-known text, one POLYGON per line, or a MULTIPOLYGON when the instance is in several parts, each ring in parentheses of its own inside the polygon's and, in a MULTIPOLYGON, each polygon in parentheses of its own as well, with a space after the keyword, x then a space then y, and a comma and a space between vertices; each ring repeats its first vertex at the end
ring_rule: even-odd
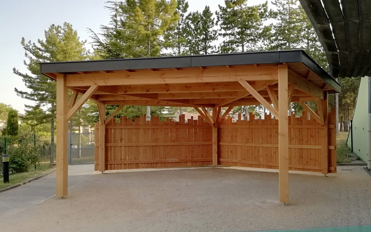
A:
POLYGON ((247 0, 225 0, 216 12, 220 33, 225 40, 221 52, 245 52, 261 50, 269 38, 271 25, 264 25, 269 19, 268 2, 247 6, 247 0))

